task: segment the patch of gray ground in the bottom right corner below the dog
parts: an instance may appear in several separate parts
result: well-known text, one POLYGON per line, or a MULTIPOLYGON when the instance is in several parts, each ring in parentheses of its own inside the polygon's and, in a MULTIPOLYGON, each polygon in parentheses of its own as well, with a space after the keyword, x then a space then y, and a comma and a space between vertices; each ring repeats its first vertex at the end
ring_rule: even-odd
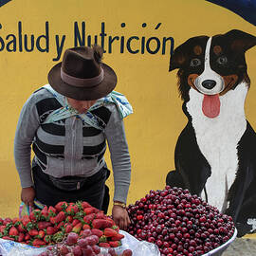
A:
POLYGON ((255 256, 256 239, 236 238, 222 256, 255 256))

